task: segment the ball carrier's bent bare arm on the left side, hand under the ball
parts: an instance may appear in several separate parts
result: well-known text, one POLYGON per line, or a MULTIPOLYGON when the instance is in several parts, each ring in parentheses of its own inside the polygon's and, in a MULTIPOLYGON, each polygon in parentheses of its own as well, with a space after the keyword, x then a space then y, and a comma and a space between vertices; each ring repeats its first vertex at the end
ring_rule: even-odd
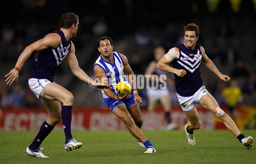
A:
MULTIPOLYGON (((93 67, 94 74, 96 75, 96 78, 99 79, 99 82, 102 83, 102 85, 108 85, 108 78, 104 72, 104 70, 98 66, 95 65, 93 67)), ((130 95, 124 95, 123 97, 120 97, 118 94, 114 94, 110 89, 104 89, 105 94, 114 100, 117 101, 123 101, 125 99, 128 99, 130 95)))

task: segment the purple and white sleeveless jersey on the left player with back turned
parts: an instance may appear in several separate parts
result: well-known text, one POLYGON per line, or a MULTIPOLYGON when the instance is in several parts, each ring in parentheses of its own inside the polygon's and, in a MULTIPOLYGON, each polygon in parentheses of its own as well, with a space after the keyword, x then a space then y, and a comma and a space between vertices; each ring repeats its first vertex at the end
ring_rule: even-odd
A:
POLYGON ((71 41, 66 40, 61 30, 52 32, 61 36, 61 43, 57 48, 47 48, 38 52, 35 64, 29 78, 47 79, 54 81, 54 75, 59 64, 67 57, 71 49, 71 41))

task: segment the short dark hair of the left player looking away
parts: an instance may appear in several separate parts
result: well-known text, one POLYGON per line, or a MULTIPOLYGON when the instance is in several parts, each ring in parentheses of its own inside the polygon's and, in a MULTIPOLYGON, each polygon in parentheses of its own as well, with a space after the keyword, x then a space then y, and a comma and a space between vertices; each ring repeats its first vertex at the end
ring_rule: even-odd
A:
POLYGON ((75 24, 78 21, 78 15, 67 12, 61 16, 61 28, 63 29, 69 29, 73 24, 75 24))

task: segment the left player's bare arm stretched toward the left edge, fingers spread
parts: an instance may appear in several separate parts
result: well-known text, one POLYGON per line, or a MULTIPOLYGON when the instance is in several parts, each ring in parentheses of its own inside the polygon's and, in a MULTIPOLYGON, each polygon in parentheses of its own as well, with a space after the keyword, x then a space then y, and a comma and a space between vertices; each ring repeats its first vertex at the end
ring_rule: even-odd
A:
POLYGON ((5 78, 7 77, 6 84, 12 85, 13 81, 17 82, 20 69, 23 67, 26 60, 28 60, 28 58, 32 55, 34 51, 40 51, 49 47, 56 48, 60 43, 61 37, 58 34, 52 33, 46 35, 43 39, 40 39, 30 44, 29 46, 26 46, 26 48, 20 54, 15 68, 4 76, 5 78))

